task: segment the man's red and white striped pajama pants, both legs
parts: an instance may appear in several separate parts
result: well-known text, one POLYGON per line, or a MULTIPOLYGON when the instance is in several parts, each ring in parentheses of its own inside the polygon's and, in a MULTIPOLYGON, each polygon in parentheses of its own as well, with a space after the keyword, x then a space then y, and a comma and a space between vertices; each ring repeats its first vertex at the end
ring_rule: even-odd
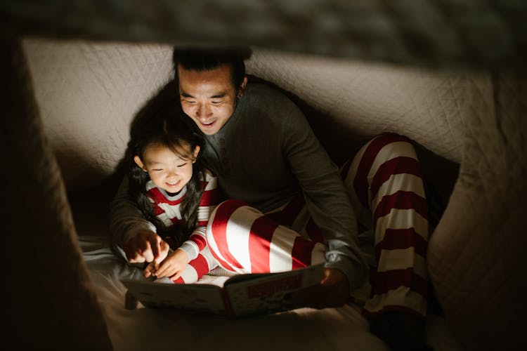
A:
MULTIPOLYGON (((407 138, 383 134, 341 168, 356 212, 370 279, 351 300, 369 316, 427 310, 428 220, 419 161, 407 138)), ((195 282, 215 267, 229 272, 282 272, 325 262, 322 233, 299 196, 263 214, 242 201, 217 206, 207 247, 176 282, 195 282)))

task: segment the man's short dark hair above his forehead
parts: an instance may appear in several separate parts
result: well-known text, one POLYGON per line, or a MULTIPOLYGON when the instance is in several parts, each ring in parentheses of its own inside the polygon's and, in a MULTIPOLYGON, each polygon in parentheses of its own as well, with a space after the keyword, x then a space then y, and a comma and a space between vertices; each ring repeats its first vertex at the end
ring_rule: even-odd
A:
POLYGON ((178 79, 178 65, 184 69, 209 71, 223 65, 230 66, 230 79, 238 89, 245 77, 245 60, 251 57, 247 46, 203 46, 174 48, 172 62, 178 79))

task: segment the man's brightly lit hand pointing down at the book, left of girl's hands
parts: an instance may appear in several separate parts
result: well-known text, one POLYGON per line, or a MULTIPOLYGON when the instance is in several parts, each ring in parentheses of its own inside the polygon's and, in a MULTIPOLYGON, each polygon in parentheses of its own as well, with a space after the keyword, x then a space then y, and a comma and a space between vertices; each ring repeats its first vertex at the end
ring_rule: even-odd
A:
POLYGON ((129 263, 161 263, 169 253, 169 245, 150 230, 139 232, 124 244, 124 253, 129 263))

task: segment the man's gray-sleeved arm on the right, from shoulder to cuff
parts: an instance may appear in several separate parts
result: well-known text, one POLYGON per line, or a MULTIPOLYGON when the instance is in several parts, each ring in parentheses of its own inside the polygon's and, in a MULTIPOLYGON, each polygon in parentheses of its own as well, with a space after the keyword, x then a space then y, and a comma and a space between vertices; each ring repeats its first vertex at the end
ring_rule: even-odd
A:
POLYGON ((327 241, 326 267, 344 273, 351 291, 363 283, 367 265, 358 247, 357 221, 349 194, 304 114, 291 104, 286 116, 282 119, 283 149, 304 192, 308 211, 327 241))

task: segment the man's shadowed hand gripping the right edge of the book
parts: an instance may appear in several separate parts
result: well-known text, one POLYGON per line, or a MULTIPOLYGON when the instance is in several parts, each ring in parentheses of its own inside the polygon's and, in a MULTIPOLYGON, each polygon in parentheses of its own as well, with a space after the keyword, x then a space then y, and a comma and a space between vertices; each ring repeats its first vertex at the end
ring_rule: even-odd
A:
POLYGON ((292 293, 292 303, 304 307, 340 307, 349 299, 349 282, 344 273, 325 268, 320 285, 292 293))

